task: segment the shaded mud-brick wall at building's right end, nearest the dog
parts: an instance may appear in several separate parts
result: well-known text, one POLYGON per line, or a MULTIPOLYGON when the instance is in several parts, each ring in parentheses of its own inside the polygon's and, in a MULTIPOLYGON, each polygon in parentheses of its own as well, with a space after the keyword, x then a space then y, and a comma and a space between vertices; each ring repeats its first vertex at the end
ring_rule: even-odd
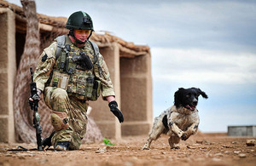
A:
POLYGON ((150 54, 120 59, 122 135, 147 135, 152 126, 150 54))

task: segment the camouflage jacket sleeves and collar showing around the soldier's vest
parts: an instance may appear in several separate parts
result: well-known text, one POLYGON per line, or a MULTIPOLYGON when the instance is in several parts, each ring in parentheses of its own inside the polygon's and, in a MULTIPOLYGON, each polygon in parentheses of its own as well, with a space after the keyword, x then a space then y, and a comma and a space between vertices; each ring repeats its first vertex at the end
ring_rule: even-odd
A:
MULTIPOLYGON (((68 37, 67 37, 68 38, 68 37)), ((68 38, 68 40, 70 40, 68 38)), ((71 43, 71 41, 69 41, 71 43)), ((34 81, 37 83, 38 89, 44 91, 46 83, 49 81, 49 77, 51 72, 54 70, 56 66, 57 60, 55 60, 55 52, 57 48, 57 43, 54 41, 49 45, 48 48, 44 49, 43 53, 40 55, 38 59, 38 65, 36 71, 34 72, 34 81)), ((74 44, 71 44, 71 48, 84 51, 93 58, 94 49, 90 45, 90 43, 86 43, 83 49, 79 49, 74 44)), ((58 60, 60 57, 58 58, 58 60)), ((102 54, 99 54, 98 57, 99 66, 102 68, 102 74, 99 73, 99 70, 93 68, 93 74, 96 79, 100 80, 102 83, 102 97, 105 100, 105 97, 109 95, 115 95, 113 91, 113 84, 109 77, 108 66, 104 61, 102 54)))

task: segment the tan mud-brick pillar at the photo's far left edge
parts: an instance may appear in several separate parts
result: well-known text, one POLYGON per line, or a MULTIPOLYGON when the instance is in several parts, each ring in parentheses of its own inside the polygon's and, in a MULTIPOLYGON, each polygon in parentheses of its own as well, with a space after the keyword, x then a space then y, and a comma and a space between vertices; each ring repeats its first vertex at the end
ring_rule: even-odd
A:
POLYGON ((0 142, 15 142, 13 92, 15 83, 15 14, 0 9, 0 142))

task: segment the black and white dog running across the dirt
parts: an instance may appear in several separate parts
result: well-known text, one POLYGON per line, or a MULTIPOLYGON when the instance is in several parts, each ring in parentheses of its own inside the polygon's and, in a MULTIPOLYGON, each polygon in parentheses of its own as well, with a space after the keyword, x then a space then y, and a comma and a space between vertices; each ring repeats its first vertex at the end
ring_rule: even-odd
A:
POLYGON ((174 94, 174 105, 154 118, 154 125, 143 150, 149 150, 153 140, 161 134, 169 135, 171 149, 179 149, 179 140, 187 140, 190 135, 195 135, 199 125, 199 116, 196 106, 198 96, 208 98, 201 89, 178 89, 174 94))

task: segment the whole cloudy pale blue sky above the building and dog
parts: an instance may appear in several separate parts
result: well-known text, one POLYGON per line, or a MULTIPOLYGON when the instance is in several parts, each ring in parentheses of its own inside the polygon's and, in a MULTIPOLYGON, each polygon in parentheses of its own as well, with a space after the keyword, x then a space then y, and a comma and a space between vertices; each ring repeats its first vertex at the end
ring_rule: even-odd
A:
MULTIPOLYGON (((19 6, 20 0, 8 0, 19 6)), ((37 12, 90 14, 109 31, 151 51, 154 117, 173 105, 178 88, 208 95, 197 106, 202 132, 256 125, 256 1, 36 0, 37 12)))

